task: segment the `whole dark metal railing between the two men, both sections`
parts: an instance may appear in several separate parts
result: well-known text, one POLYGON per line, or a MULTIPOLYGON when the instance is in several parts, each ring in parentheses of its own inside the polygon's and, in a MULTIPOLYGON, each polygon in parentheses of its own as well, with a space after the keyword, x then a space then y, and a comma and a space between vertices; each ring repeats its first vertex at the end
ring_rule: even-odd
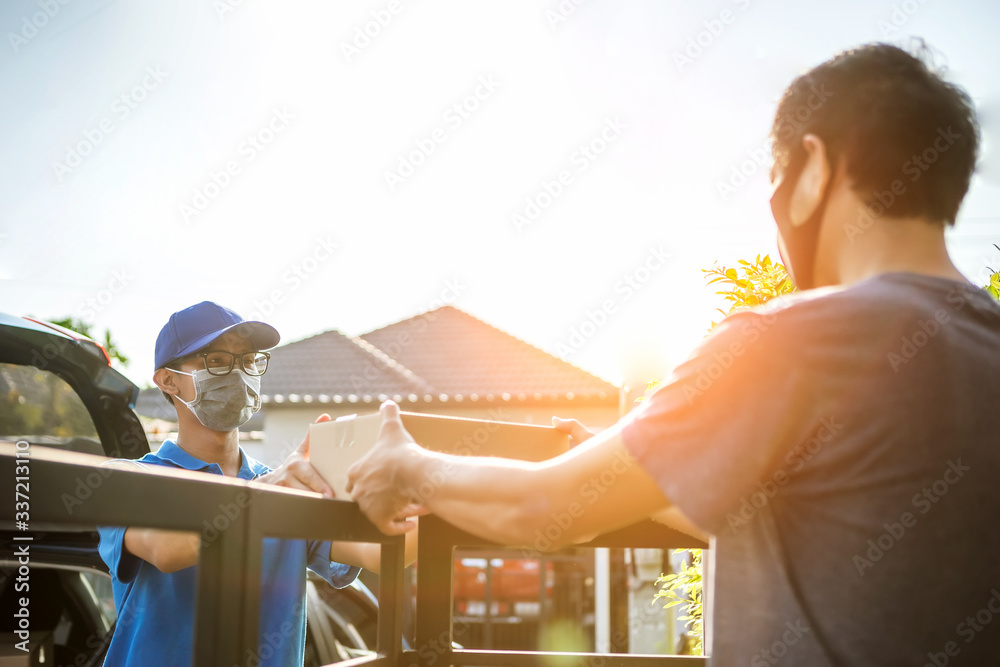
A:
MULTIPOLYGON (((343 667, 652 667, 699 665, 687 656, 552 653, 454 649, 453 574, 456 547, 496 547, 434 516, 421 519, 418 546, 416 642, 402 650, 402 537, 379 532, 351 502, 316 498, 279 488, 262 488, 218 476, 153 467, 149 472, 101 467, 98 457, 32 447, 30 529, 140 526, 202 532, 207 517, 224 508, 228 520, 212 539, 203 539, 194 623, 195 667, 243 664, 258 650, 261 549, 265 537, 332 539, 382 545, 376 654, 343 667), (80 489, 86 498, 79 498, 80 489), (81 502, 66 502, 66 496, 81 502), (232 508, 237 508, 233 510, 232 508)), ((14 479, 13 446, 0 446, 0 479, 14 479)), ((13 522, 14 504, 0 503, 0 521, 13 522)), ((210 522, 211 523, 211 522, 210 522)), ((204 535, 203 535, 204 537, 204 535)), ((30 542, 26 542, 30 544, 30 542)), ((644 522, 603 535, 583 547, 704 548, 701 541, 659 524, 644 522)))

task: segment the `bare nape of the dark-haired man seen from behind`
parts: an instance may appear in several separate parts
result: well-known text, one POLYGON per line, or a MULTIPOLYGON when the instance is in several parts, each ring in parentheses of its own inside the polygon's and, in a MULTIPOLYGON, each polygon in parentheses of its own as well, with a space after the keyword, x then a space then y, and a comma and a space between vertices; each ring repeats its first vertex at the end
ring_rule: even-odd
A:
POLYGON ((851 285, 894 272, 968 282, 948 256, 944 225, 923 218, 883 218, 854 243, 845 244, 836 262, 837 282, 851 285))

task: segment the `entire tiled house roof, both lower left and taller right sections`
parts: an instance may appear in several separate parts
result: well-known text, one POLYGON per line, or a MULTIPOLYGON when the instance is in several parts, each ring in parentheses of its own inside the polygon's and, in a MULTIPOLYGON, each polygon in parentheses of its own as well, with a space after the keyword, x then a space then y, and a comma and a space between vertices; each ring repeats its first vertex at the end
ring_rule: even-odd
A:
POLYGON ((605 380, 452 306, 348 338, 327 331, 271 351, 261 391, 297 403, 597 402, 605 380))

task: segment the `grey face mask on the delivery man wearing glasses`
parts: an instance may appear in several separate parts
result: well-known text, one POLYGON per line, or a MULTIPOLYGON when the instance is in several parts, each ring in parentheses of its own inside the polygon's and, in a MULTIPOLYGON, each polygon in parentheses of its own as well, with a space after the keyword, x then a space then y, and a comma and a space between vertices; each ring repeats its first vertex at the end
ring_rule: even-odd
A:
POLYGON ((234 431, 260 410, 260 376, 247 375, 239 367, 228 375, 212 375, 207 369, 185 373, 167 370, 194 379, 194 400, 174 396, 191 410, 206 428, 234 431))

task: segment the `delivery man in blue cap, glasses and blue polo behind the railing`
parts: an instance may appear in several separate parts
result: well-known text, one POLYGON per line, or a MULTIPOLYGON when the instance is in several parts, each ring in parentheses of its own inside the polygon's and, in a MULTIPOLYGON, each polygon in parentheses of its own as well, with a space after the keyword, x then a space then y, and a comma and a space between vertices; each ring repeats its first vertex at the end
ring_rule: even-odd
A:
MULTIPOLYGON (((260 409, 266 350, 278 332, 203 301, 178 311, 156 339, 153 381, 177 409, 177 440, 123 466, 167 466, 256 480, 333 497, 309 463, 309 436, 271 470, 239 445, 239 427, 260 409)), ((326 421, 322 415, 317 421, 326 421)), ((163 508, 169 511, 169 508, 163 508)), ((211 525, 212 517, 206 517, 211 525)), ((191 664, 199 548, 203 537, 150 528, 99 527, 100 553, 111 570, 118 618, 107 667, 191 664)), ((409 537, 409 536, 408 536, 409 537)), ((416 553, 407 540, 407 562, 416 553)), ((260 636, 249 665, 301 665, 305 648, 306 568, 342 588, 359 568, 378 572, 380 546, 355 542, 265 539, 260 636)))

